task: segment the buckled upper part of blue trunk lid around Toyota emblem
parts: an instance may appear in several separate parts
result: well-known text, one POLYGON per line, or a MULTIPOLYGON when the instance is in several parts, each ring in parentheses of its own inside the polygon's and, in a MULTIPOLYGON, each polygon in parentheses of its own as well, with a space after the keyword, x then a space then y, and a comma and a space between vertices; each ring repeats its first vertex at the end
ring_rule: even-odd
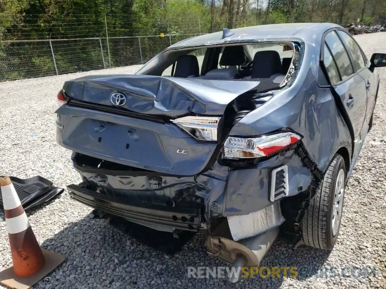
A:
POLYGON ((259 83, 120 74, 80 77, 66 81, 63 89, 72 99, 114 108, 110 96, 120 92, 126 97, 122 110, 174 118, 222 115, 232 100, 259 83))

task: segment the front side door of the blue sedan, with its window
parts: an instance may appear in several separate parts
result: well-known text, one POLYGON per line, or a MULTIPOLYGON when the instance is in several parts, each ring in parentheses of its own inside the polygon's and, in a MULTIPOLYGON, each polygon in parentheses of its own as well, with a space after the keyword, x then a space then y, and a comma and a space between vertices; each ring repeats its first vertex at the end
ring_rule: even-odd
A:
POLYGON ((337 30, 337 32, 343 44, 345 45, 347 52, 349 53, 354 71, 356 71, 365 81, 367 90, 367 109, 362 134, 366 134, 367 124, 370 121, 372 110, 375 104, 375 96, 377 90, 375 76, 368 68, 369 61, 352 36, 343 30, 337 30))

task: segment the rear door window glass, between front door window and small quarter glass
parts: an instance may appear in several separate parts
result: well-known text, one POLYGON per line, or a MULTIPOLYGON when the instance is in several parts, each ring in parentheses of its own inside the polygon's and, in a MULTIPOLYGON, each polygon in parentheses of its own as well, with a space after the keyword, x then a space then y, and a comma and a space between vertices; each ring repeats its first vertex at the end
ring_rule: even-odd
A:
POLYGON ((334 57, 334 60, 338 66, 342 80, 347 79, 354 72, 352 70, 349 55, 347 55, 347 52, 344 49, 344 46, 338 35, 332 31, 326 35, 325 41, 328 45, 328 48, 331 50, 332 57, 334 57))

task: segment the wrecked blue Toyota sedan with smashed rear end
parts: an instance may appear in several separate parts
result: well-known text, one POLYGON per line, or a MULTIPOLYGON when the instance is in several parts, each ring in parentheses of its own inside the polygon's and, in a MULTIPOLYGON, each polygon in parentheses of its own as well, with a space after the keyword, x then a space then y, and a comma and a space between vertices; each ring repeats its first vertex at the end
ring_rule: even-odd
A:
POLYGON ((234 267, 257 266, 279 229, 332 249, 381 66, 386 54, 368 60, 339 25, 273 24, 183 40, 132 75, 66 81, 56 139, 83 179, 67 188, 176 237, 205 230, 234 267))

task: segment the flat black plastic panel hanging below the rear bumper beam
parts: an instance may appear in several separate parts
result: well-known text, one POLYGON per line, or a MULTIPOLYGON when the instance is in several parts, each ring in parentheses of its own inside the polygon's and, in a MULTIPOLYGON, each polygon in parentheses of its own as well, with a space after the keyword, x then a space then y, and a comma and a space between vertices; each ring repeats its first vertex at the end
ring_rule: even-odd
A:
POLYGON ((173 237, 173 233, 157 231, 129 222, 120 217, 110 217, 109 223, 137 241, 169 255, 174 255, 179 252, 196 234, 194 232, 184 231, 179 234, 179 238, 177 239, 173 237))

